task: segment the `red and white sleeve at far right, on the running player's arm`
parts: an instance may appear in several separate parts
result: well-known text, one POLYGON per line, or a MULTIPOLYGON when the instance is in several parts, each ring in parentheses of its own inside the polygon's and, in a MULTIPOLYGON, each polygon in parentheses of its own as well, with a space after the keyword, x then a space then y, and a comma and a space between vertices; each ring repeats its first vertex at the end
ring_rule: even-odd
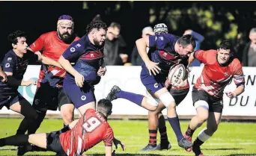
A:
POLYGON ((235 61, 236 63, 234 64, 234 83, 237 85, 237 87, 239 87, 240 85, 244 85, 245 84, 245 75, 243 75, 243 67, 240 63, 239 60, 235 61))

